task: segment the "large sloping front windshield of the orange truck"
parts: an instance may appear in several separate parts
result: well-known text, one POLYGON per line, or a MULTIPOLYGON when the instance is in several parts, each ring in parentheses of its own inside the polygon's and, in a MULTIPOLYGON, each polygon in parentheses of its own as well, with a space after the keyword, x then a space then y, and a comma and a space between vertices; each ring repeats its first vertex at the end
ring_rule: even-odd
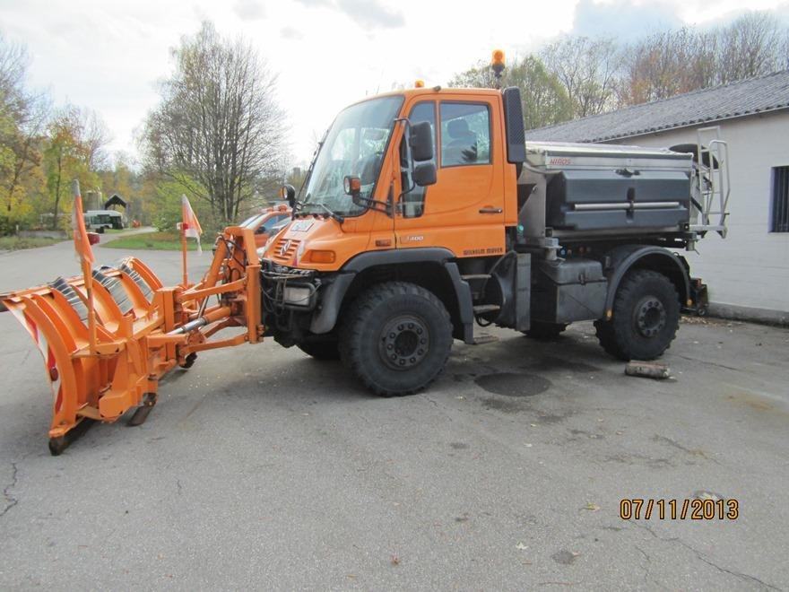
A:
POLYGON ((318 151, 304 197, 306 212, 325 211, 358 215, 365 205, 356 205, 345 194, 342 179, 359 177, 361 197, 372 197, 381 161, 403 97, 365 100, 344 109, 334 119, 318 151))

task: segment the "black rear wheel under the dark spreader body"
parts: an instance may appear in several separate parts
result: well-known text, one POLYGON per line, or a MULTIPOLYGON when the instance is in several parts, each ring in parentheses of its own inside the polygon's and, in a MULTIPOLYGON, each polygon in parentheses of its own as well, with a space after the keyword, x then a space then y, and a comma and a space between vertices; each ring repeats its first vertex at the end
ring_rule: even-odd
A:
POLYGON ((628 272, 620 283, 610 321, 597 320, 597 339, 620 360, 654 360, 672 344, 680 326, 680 299, 663 274, 628 272))

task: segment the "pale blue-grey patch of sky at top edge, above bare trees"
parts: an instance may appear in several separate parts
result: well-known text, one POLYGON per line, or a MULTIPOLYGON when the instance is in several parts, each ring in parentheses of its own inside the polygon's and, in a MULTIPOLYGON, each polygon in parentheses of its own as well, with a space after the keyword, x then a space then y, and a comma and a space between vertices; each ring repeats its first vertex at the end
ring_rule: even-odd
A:
POLYGON ((682 24, 676 5, 668 2, 634 4, 614 0, 603 4, 581 0, 576 6, 569 34, 634 41, 644 37, 645 33, 678 29, 682 24))

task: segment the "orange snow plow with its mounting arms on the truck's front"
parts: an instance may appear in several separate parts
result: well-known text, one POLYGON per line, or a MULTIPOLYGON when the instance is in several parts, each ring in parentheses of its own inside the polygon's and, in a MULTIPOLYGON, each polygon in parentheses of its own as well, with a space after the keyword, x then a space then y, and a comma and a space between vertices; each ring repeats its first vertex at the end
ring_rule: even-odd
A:
POLYGON ((216 247, 211 267, 194 285, 166 287, 134 257, 93 269, 95 344, 82 275, 0 294, 2 308, 44 358, 52 390, 53 455, 92 421, 116 422, 136 408, 131 423, 142 423, 156 403, 161 377, 176 366, 190 367, 198 352, 262 340, 260 264, 252 231, 229 227, 216 247), (234 326, 246 331, 212 339, 234 326))

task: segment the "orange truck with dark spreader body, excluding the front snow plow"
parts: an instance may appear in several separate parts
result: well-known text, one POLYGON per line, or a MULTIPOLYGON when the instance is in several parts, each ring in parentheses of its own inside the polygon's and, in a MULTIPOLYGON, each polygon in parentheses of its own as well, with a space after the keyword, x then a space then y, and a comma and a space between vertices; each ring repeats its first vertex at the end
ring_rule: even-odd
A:
POLYGON ((299 195, 284 188, 292 220, 261 261, 266 334, 342 358, 385 396, 428 385, 453 340, 479 342, 475 324, 550 338, 594 320, 610 353, 661 355, 681 309, 704 306, 671 250, 698 239, 692 155, 603 150, 584 175, 541 169, 524 137, 515 88, 417 88, 343 109, 299 195), (551 227, 572 199, 602 222, 551 227))

